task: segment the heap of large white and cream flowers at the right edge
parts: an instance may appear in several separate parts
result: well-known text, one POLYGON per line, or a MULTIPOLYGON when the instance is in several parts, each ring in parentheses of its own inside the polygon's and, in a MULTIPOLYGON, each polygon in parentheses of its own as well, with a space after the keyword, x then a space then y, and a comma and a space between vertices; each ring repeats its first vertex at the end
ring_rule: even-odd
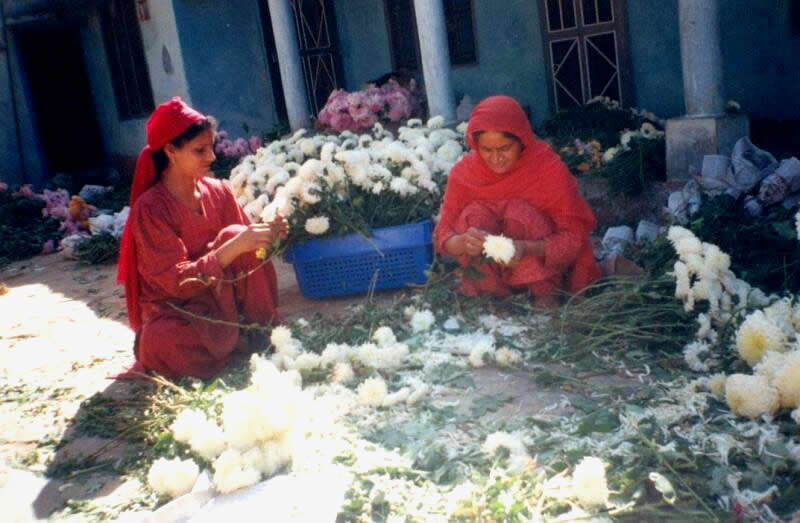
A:
POLYGON ((738 323, 733 348, 754 374, 713 376, 712 392, 724 395, 736 415, 756 419, 793 409, 792 419, 800 423, 800 303, 792 297, 766 296, 736 278, 730 257, 688 229, 670 227, 668 238, 680 258, 674 266, 675 296, 687 311, 698 301, 708 302, 708 313, 697 317, 696 340, 684 349, 689 367, 709 371, 717 328, 738 323), (705 353, 708 357, 701 360, 705 353))

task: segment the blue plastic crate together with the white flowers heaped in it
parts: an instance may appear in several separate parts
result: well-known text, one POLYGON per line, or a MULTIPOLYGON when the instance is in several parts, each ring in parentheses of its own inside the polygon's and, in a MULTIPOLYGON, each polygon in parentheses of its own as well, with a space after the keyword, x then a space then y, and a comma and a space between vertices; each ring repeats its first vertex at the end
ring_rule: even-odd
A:
POLYGON ((279 249, 307 298, 423 283, 463 130, 439 117, 409 120, 397 136, 379 123, 361 135, 300 130, 245 157, 230 184, 252 220, 287 218, 279 249))

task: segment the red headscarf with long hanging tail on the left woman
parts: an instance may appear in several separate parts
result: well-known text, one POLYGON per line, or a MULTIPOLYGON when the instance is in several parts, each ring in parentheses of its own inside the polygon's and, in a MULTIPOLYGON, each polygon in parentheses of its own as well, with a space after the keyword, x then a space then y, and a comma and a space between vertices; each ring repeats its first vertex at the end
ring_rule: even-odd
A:
MULTIPOLYGON (((189 127, 205 119, 203 114, 186 105, 179 96, 156 107, 145 124, 147 145, 136 161, 136 172, 131 186, 131 209, 139 196, 156 182, 156 165, 152 153, 161 150, 189 127)), ((131 235, 131 227, 126 225, 122 234, 117 281, 125 284, 128 321, 134 330, 139 330, 142 320, 139 310, 139 271, 136 269, 136 245, 131 235)))

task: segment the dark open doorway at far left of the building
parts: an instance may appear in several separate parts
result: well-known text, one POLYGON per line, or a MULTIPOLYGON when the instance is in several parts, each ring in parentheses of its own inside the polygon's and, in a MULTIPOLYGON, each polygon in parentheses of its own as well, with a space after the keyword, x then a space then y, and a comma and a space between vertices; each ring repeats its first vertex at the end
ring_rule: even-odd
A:
POLYGON ((16 37, 49 176, 102 167, 80 28, 20 30, 16 37))

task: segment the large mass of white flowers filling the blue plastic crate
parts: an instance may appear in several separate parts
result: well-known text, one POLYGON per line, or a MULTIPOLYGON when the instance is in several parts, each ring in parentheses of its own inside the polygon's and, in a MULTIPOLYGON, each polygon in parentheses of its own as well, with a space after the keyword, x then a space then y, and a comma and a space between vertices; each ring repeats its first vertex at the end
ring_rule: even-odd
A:
POLYGON ((322 236, 413 223, 439 209, 447 175, 465 151, 464 130, 434 117, 411 119, 398 136, 372 133, 306 136, 301 129, 246 156, 230 185, 253 221, 284 216, 284 246, 322 236))

